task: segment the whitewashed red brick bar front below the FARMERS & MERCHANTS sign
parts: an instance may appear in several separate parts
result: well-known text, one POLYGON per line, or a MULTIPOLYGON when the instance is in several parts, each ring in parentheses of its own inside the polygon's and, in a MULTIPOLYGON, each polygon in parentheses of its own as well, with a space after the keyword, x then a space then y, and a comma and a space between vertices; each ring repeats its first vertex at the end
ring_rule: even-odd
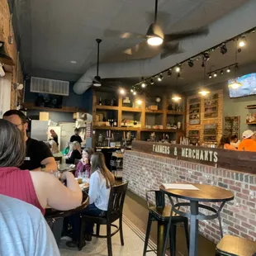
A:
MULTIPOLYGON (((256 240, 256 175, 126 151, 123 180, 129 181, 130 191, 143 198, 146 190, 159 189, 162 183, 204 183, 230 189, 235 199, 221 212, 224 233, 256 240)), ((216 244, 220 240, 217 220, 200 221, 199 231, 216 244)))

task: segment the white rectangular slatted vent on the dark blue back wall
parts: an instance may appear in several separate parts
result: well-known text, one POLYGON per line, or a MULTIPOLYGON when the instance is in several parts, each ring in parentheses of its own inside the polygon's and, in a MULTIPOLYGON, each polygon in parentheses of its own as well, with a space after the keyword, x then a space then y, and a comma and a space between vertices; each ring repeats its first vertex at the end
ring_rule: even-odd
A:
POLYGON ((69 96, 69 82, 31 77, 31 92, 69 96))

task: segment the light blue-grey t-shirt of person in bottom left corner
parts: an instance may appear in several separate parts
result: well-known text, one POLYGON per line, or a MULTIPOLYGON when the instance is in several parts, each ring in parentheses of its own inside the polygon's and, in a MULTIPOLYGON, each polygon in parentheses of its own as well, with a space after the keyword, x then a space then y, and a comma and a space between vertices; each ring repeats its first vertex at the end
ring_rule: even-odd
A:
POLYGON ((49 225, 39 209, 0 195, 0 256, 59 256, 49 225))

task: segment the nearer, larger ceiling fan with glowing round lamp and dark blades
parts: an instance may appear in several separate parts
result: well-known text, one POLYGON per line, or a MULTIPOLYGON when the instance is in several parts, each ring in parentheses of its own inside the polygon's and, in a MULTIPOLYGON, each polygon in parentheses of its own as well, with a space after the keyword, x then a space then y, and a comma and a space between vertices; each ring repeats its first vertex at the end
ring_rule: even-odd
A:
MULTIPOLYGON (((106 36, 114 36, 117 34, 115 31, 107 31, 106 36), (108 34, 108 35, 107 35, 108 34)), ((118 33, 120 35, 120 32, 118 33)), ((159 48, 161 52, 161 59, 166 58, 168 55, 178 53, 178 40, 183 40, 185 38, 202 36, 208 34, 208 29, 205 27, 181 31, 172 34, 164 34, 163 28, 158 22, 158 0, 155 0, 154 7, 154 22, 149 26, 146 35, 133 34, 130 32, 121 33, 121 38, 136 38, 142 39, 139 44, 124 50, 127 55, 135 55, 140 50, 145 50, 145 48, 150 45, 159 48)))

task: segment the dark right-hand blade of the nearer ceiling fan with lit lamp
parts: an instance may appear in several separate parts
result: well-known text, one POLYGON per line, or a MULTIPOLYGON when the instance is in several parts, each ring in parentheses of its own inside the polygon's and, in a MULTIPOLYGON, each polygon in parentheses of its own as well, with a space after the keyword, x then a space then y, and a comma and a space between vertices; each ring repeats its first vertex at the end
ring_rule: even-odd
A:
POLYGON ((195 36, 203 36, 207 35, 209 33, 209 30, 207 27, 202 27, 195 30, 189 30, 189 31, 181 31, 177 33, 172 33, 168 35, 164 35, 164 41, 169 42, 173 40, 182 40, 189 37, 195 37, 195 36))

